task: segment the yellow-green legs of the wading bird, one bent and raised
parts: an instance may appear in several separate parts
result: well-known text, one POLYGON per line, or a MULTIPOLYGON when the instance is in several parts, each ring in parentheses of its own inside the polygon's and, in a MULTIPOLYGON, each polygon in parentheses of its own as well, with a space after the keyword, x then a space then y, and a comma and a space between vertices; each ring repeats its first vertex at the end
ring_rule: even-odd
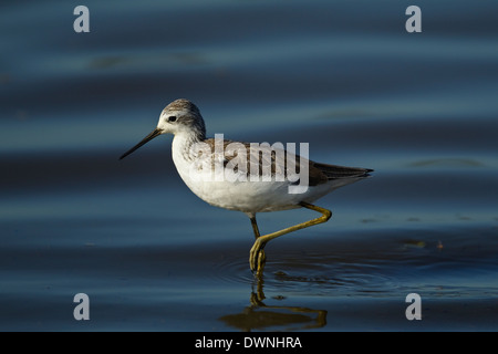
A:
POLYGON ((272 233, 263 235, 263 236, 259 236, 259 230, 258 230, 258 225, 256 223, 256 218, 253 218, 253 217, 251 218, 251 223, 252 223, 252 229, 255 230, 256 241, 249 253, 249 266, 250 266, 251 270, 253 272, 256 272, 258 275, 262 274, 262 269, 264 267, 264 261, 266 261, 266 256, 264 256, 263 249, 264 249, 264 246, 267 246, 267 243, 269 241, 278 238, 279 236, 282 236, 282 235, 286 235, 286 233, 289 233, 292 231, 304 229, 304 228, 308 228, 313 225, 326 222, 330 219, 330 217, 332 216, 332 211, 330 211, 328 209, 320 208, 320 207, 313 206, 313 205, 304 202, 304 201, 302 201, 300 205, 301 205, 301 207, 304 207, 307 209, 311 209, 311 210, 321 212, 322 216, 317 219, 312 219, 310 221, 298 223, 298 225, 291 226, 290 228, 287 228, 287 229, 280 230, 280 231, 276 231, 272 233))

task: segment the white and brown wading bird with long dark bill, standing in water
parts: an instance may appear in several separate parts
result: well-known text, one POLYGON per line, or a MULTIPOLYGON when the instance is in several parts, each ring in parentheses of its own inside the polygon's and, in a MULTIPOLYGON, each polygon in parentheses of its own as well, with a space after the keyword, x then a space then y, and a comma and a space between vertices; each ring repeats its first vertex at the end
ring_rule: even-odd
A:
POLYGON ((167 133, 175 135, 173 160, 190 190, 212 206, 239 210, 250 218, 256 241, 250 251, 249 263, 258 274, 262 273, 266 261, 263 248, 270 240, 329 220, 331 211, 311 202, 339 187, 367 177, 372 171, 366 168, 313 163, 281 148, 269 150, 259 145, 253 148, 252 144, 247 143, 221 140, 219 144, 216 138, 207 139, 203 116, 197 106, 187 100, 176 100, 168 104, 159 116, 157 127, 121 158, 167 133), (279 158, 282 156, 283 158, 279 158), (255 176, 261 178, 253 178, 255 176), (263 236, 259 233, 257 212, 301 207, 315 210, 322 216, 277 232, 263 236))

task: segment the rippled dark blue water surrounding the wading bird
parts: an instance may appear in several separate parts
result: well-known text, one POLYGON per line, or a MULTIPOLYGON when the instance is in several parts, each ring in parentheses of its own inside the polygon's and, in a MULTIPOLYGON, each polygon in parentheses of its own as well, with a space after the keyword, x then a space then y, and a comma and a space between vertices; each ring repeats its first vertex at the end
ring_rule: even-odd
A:
POLYGON ((79 34, 70 3, 1 6, 1 331, 498 330, 494 2, 418 1, 416 34, 403 1, 85 4, 79 34), (209 135, 375 173, 258 282, 249 220, 188 190, 170 137, 117 160, 177 97, 209 135))

